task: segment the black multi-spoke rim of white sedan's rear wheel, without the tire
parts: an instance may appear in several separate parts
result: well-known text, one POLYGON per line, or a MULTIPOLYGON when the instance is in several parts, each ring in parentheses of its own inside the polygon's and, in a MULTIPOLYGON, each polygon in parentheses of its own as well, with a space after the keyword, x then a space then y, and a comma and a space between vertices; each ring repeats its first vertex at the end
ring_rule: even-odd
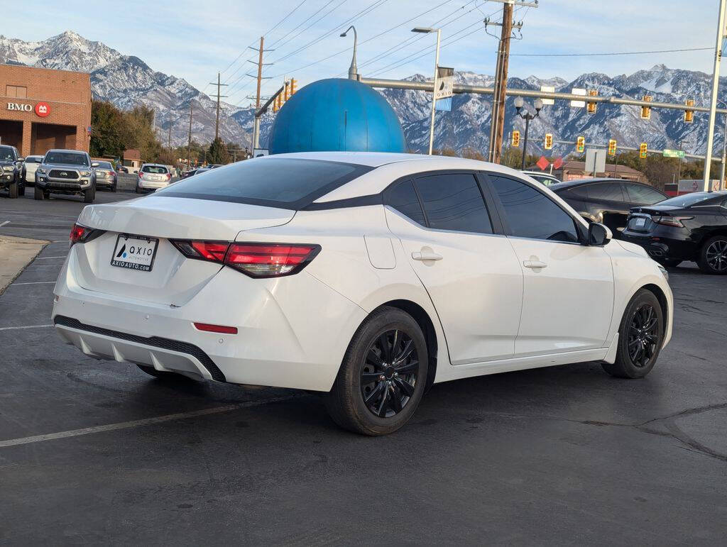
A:
POLYGON ((400 413, 414 394, 419 356, 414 341, 402 331, 382 333, 361 363, 361 397, 379 418, 400 413))

